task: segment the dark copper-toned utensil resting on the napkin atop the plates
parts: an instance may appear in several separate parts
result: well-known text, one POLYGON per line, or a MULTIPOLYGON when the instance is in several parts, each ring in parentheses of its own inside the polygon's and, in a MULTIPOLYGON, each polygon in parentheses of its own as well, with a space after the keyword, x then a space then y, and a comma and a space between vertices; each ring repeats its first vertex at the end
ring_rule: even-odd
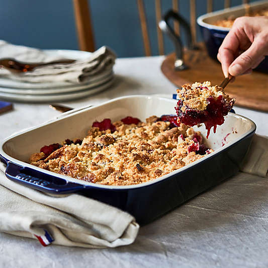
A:
POLYGON ((0 59, 0 66, 14 72, 27 72, 31 71, 36 67, 44 66, 44 65, 50 65, 50 64, 56 64, 56 63, 72 63, 75 60, 73 59, 66 59, 66 60, 55 60, 55 61, 50 61, 47 63, 26 63, 26 62, 21 62, 18 60, 15 60, 13 58, 5 58, 5 59, 0 59))

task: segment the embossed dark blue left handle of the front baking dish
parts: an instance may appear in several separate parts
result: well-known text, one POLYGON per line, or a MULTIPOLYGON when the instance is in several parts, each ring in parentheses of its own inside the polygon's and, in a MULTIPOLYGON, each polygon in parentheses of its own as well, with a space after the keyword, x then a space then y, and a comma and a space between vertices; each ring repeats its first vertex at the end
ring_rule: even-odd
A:
POLYGON ((7 163, 5 174, 14 182, 42 192, 68 194, 84 188, 83 185, 68 182, 62 178, 23 167, 10 161, 7 163))

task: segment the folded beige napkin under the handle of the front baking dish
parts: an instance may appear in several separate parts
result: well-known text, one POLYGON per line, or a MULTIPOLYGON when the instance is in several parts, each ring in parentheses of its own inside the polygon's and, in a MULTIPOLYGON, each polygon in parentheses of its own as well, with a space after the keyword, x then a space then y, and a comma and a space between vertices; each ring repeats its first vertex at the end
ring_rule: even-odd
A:
POLYGON ((9 180, 0 161, 0 231, 88 248, 131 244, 139 225, 117 208, 77 194, 50 196, 9 180))

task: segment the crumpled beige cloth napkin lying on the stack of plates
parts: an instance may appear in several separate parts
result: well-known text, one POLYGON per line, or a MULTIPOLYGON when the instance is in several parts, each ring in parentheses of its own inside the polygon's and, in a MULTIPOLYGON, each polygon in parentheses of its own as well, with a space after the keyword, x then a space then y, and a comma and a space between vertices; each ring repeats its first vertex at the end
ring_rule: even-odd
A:
MULTIPOLYGON (((51 56, 41 49, 17 46, 0 40, 0 58, 14 58, 26 63, 47 63, 64 59, 51 56)), ((104 71, 112 70, 116 55, 108 47, 103 46, 88 58, 67 64, 51 64, 37 67, 33 71, 14 74, 9 70, 0 69, 0 77, 31 83, 69 82, 80 83, 90 81, 91 77, 104 71)))

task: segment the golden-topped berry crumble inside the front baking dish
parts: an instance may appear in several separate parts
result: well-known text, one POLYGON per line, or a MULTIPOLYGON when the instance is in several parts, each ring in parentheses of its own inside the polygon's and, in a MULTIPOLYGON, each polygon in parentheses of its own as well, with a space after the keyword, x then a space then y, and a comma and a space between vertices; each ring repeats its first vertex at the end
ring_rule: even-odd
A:
POLYGON ((41 148, 30 163, 101 185, 136 185, 154 180, 213 152, 199 131, 177 123, 175 115, 146 122, 126 117, 94 122, 83 140, 41 148))

